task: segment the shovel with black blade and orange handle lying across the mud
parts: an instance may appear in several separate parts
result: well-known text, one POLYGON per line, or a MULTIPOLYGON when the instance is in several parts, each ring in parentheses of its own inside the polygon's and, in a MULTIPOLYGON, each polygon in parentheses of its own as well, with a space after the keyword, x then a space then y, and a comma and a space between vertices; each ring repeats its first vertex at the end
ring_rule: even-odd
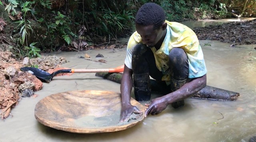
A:
POLYGON ((124 65, 121 65, 116 68, 110 69, 60 69, 55 71, 54 73, 50 74, 42 69, 34 68, 34 67, 22 67, 20 70, 32 73, 42 82, 50 82, 52 78, 59 74, 59 73, 100 73, 100 72, 107 72, 107 73, 120 73, 124 71, 124 65))

